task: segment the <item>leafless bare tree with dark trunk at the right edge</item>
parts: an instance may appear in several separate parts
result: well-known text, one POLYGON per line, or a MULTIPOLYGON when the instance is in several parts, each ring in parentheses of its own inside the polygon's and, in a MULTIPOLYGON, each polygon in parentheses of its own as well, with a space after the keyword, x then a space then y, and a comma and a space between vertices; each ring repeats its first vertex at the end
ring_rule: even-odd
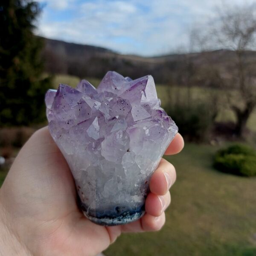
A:
MULTIPOLYGON (((225 65, 209 59, 205 54, 209 68, 214 76, 207 79, 219 82, 227 96, 227 102, 236 115, 236 134, 242 137, 250 114, 256 108, 256 69, 255 60, 250 53, 256 47, 256 4, 227 6, 223 4, 217 11, 215 22, 204 29, 198 37, 202 50, 230 49, 232 54, 225 65), (213 24, 213 25, 212 25, 213 24), (210 43, 209 43, 210 42, 210 43), (214 63, 213 63, 214 62, 214 63)), ((211 81, 208 81, 211 83, 211 81)))

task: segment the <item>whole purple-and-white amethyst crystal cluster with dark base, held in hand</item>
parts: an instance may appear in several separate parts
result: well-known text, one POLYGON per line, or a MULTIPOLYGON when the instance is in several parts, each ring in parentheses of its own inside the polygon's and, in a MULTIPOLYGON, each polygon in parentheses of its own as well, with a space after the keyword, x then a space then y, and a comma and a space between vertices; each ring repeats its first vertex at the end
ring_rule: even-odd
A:
POLYGON ((97 90, 86 80, 75 89, 60 84, 45 102, 84 215, 102 225, 140 218, 150 176, 177 133, 152 76, 131 80, 108 72, 97 90))

